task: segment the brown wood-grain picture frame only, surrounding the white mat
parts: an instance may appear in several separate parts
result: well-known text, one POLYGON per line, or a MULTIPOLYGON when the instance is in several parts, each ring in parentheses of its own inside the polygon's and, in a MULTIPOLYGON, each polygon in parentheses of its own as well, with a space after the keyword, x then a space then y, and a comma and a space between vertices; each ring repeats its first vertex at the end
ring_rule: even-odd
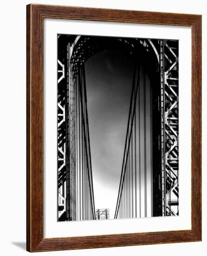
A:
POLYGON ((27 251, 201 241, 201 15, 31 4, 27 6, 27 251), (43 19, 192 28, 192 229, 43 238, 43 19))

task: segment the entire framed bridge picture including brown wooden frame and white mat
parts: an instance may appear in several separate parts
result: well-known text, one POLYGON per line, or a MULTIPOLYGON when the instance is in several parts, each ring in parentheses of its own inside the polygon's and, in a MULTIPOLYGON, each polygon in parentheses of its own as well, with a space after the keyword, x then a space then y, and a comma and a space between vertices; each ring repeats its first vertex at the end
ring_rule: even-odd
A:
POLYGON ((201 15, 27 6, 27 250, 201 241, 201 15))

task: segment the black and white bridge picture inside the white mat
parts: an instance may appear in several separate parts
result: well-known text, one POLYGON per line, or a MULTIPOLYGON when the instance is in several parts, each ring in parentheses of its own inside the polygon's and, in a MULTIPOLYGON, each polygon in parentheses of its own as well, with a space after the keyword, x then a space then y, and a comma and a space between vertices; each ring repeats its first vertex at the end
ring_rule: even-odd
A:
POLYGON ((57 56, 58 222, 178 216, 179 40, 58 34, 57 56))

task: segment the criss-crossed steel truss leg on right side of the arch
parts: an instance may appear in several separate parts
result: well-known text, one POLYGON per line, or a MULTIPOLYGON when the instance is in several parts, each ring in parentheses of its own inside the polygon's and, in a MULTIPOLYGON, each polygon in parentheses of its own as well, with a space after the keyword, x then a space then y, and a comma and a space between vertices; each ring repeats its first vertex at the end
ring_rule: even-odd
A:
POLYGON ((179 214, 178 41, 160 40, 162 107, 162 215, 179 214))

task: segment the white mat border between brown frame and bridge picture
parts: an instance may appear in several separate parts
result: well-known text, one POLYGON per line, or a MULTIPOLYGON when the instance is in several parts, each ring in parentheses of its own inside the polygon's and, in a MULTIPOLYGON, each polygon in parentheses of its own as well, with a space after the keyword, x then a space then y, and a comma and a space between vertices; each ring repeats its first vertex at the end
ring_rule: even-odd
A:
POLYGON ((44 238, 191 229, 191 28, 44 19, 43 77, 44 238), (57 222, 57 34, 179 40, 179 216, 57 222))

